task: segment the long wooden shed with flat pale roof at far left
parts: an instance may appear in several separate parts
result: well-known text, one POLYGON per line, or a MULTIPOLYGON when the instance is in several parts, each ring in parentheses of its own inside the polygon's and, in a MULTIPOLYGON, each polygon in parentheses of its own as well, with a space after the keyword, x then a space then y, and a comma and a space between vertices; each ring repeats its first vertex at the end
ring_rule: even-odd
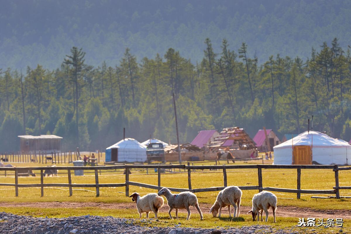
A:
POLYGON ((20 138, 20 151, 28 153, 61 152, 61 136, 56 135, 22 135, 20 138))

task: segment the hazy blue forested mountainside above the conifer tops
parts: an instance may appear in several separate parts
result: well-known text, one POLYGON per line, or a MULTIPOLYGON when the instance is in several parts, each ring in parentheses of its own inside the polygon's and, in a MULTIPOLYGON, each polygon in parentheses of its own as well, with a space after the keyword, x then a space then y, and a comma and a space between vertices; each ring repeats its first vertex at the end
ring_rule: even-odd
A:
POLYGON ((1 1, 0 64, 55 69, 72 46, 91 65, 114 67, 125 48, 138 62, 174 48, 195 64, 206 38, 216 52, 223 38, 236 52, 245 42, 259 64, 278 53, 306 60, 309 48, 335 37, 346 48, 349 22, 347 0, 1 1))

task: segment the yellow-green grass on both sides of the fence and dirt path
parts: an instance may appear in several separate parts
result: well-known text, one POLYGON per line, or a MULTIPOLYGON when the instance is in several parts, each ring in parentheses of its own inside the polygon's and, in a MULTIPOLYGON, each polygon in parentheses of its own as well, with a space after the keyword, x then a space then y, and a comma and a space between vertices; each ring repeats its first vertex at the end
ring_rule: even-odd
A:
MULTIPOLYGON (((221 161, 226 163, 226 161, 221 161)), ((235 164, 261 164, 262 160, 253 161, 237 161, 235 164)), ((271 164, 272 160, 264 160, 265 164, 271 164)), ((16 166, 42 166, 39 163, 14 163, 16 166)), ((213 162, 201 162, 194 165, 213 165, 213 162)), ((72 166, 68 163, 57 166, 72 166)), ((178 171, 178 170, 177 170, 178 171)), ((88 173, 85 171, 85 176, 72 176, 72 183, 95 183, 93 171, 88 173)), ((181 170, 182 173, 165 173, 161 174, 161 186, 187 188, 187 173, 181 170)), ((3 173, 3 172, 1 172, 3 173)), ((7 172, 8 174, 12 172, 7 172)), ((40 174, 39 171, 35 173, 40 174)), ((60 171, 59 176, 44 178, 44 183, 67 183, 68 177, 66 171, 60 171)), ((124 183, 125 175, 120 171, 102 172, 99 175, 100 183, 124 183)), ((145 174, 146 170, 132 171, 130 181, 148 183, 157 185, 157 173, 152 169, 148 170, 149 174, 145 174)), ((14 176, 4 177, 0 174, 2 183, 14 183, 14 176)), ((264 187, 278 187, 278 188, 296 188, 297 171, 296 169, 262 169, 263 186, 264 187)), ((247 186, 258 185, 257 169, 229 169, 227 170, 228 185, 247 186)), ((340 186, 350 186, 351 172, 339 172, 340 186)), ((19 177, 19 183, 40 183, 40 176, 37 177, 19 177)), ((212 186, 223 186, 223 172, 210 171, 210 172, 192 172, 191 173, 192 188, 203 188, 212 186)), ((331 169, 302 169, 301 187, 302 189, 332 189, 335 186, 334 172, 331 169)), ((103 203, 124 203, 131 202, 131 199, 125 196, 125 188, 100 188, 100 197, 95 197, 95 188, 73 188, 73 196, 68 196, 68 188, 44 188, 44 197, 40 197, 40 188, 19 188, 19 196, 15 197, 14 187, 0 186, 0 197, 2 202, 103 202, 103 203)), ((141 195, 150 192, 156 192, 153 189, 141 188, 130 186, 130 193, 138 192, 141 195)), ((241 205, 251 206, 253 194, 257 190, 243 190, 241 205)), ((350 194, 349 190, 340 190, 341 195, 350 194)), ((200 203, 212 204, 216 199, 218 192, 205 192, 197 193, 200 203)), ((351 209, 351 199, 312 199, 311 194, 302 194, 301 199, 296 199, 296 194, 293 193, 280 193, 275 192, 278 197, 279 206, 298 206, 308 207, 320 210, 332 209, 351 209), (293 198, 293 199, 287 199, 293 198)), ((200 205, 201 206, 201 205, 200 205)), ((19 215, 32 215, 32 216, 48 216, 48 217, 67 217, 79 215, 102 215, 114 216, 120 218, 139 218, 135 209, 96 209, 93 207, 84 208, 36 208, 36 207, 1 207, 0 210, 4 212, 11 212, 19 215)), ((151 223, 139 222, 143 226, 174 226, 181 222, 182 227, 201 227, 201 228, 214 228, 214 227, 228 227, 228 226, 249 226, 257 224, 252 222, 251 215, 244 213, 240 214, 240 218, 230 220, 224 215, 221 219, 213 218, 208 214, 208 210, 203 210, 204 221, 199 220, 199 215, 196 212, 192 213, 190 221, 185 221, 186 215, 180 214, 179 220, 170 220, 167 213, 160 213, 160 222, 152 221, 151 223)), ((144 214, 145 217, 145 214, 144 214)), ((153 215, 151 215, 153 217, 153 215)), ((316 217, 317 218, 317 217, 316 217)), ((300 227, 296 227, 298 218, 285 218, 278 217, 277 224, 272 223, 273 217, 269 216, 268 225, 272 228, 284 228, 293 231, 301 231, 300 227)), ((351 220, 344 219, 344 232, 348 232, 351 228, 351 220)), ((264 224, 260 222, 260 224, 264 224)), ((322 227, 304 227, 304 233, 338 233, 340 228, 333 227, 324 229, 322 227), (314 231, 312 231, 314 230, 314 231)))

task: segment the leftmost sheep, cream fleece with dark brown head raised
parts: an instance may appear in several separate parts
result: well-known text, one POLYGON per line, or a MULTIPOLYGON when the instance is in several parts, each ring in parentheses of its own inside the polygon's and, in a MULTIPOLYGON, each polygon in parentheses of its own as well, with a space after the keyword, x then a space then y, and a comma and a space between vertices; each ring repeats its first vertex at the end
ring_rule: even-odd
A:
POLYGON ((138 213, 141 218, 141 213, 146 213, 146 218, 149 218, 149 212, 152 211, 157 219, 158 210, 163 206, 163 197, 158 196, 156 193, 149 193, 140 197, 139 193, 133 193, 129 196, 132 201, 137 204, 138 213))

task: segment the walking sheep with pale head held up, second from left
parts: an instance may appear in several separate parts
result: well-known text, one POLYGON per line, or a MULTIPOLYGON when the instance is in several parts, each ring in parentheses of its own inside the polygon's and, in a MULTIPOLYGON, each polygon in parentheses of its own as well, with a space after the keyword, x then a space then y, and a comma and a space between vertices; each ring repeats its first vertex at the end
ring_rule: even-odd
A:
POLYGON ((162 188, 159 192, 158 192, 159 196, 165 196, 167 198, 168 201, 168 206, 170 207, 170 210, 168 210, 168 214, 170 215, 171 219, 172 215, 171 215, 171 211, 173 209, 176 209, 176 218, 178 219, 178 209, 186 209, 188 212, 188 217, 186 218, 186 220, 190 219, 190 209, 189 206, 194 206, 196 207, 196 209, 198 210, 199 214, 200 214, 200 220, 203 220, 203 216, 202 216, 202 212, 200 210, 199 204, 198 204, 198 200, 195 194, 191 193, 191 192, 181 192, 178 194, 172 194, 171 191, 168 188, 162 188))

